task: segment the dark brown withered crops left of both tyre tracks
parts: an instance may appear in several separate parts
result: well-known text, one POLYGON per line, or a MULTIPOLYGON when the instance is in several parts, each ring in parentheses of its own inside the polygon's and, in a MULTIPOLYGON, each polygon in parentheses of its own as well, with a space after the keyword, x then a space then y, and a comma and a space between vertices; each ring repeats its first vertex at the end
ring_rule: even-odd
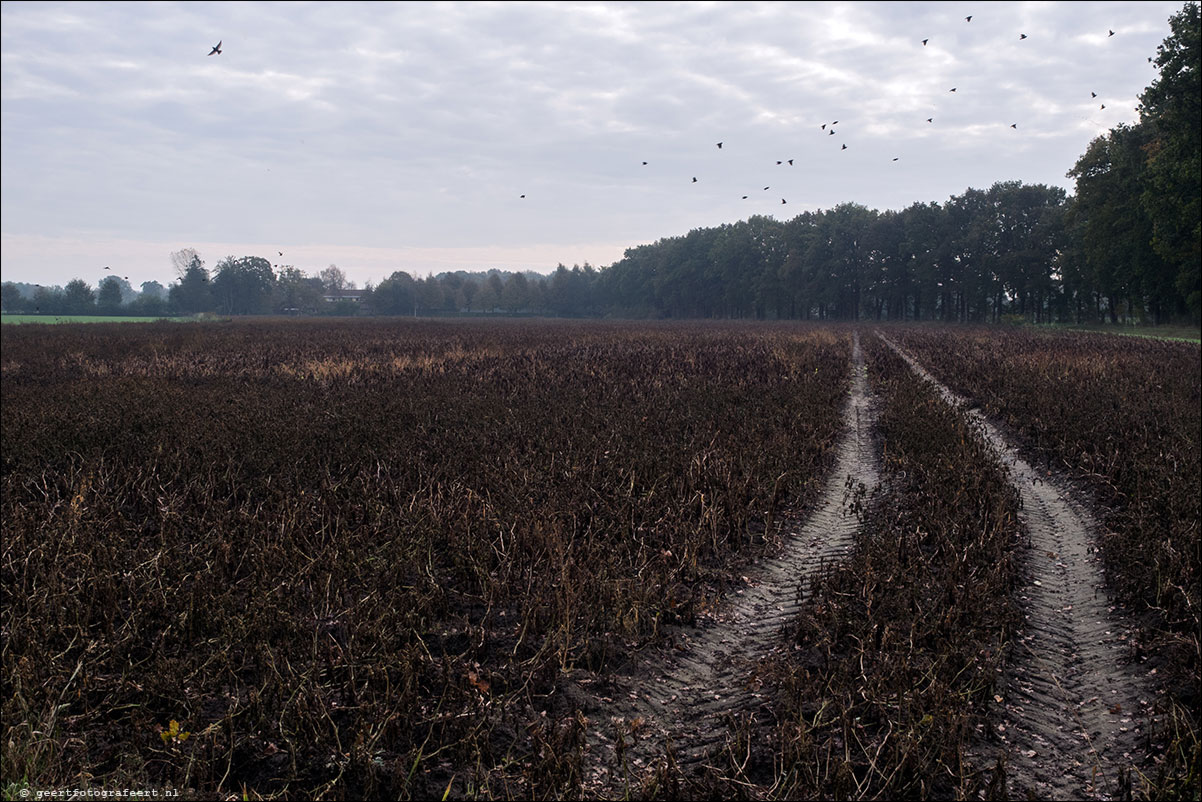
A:
POLYGON ((2 774, 572 796, 572 672, 813 500, 849 338, 248 322, 5 333, 2 774))

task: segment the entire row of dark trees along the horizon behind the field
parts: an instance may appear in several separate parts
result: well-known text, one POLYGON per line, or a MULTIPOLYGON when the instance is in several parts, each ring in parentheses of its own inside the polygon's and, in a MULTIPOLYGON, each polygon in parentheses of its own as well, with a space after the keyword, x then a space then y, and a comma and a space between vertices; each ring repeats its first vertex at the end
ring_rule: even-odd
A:
MULTIPOLYGON (((1170 19, 1160 77, 1141 120, 1096 138, 1069 177, 1076 195, 999 182, 944 203, 877 212, 855 203, 767 216, 626 250, 614 265, 536 273, 395 272, 355 291, 335 266, 317 275, 260 256, 172 255, 178 281, 132 299, 115 277, 24 296, 6 310, 82 314, 542 314, 654 317, 998 321, 1200 316, 1198 4, 1170 19)), ((132 293, 132 290, 130 293, 132 293)))

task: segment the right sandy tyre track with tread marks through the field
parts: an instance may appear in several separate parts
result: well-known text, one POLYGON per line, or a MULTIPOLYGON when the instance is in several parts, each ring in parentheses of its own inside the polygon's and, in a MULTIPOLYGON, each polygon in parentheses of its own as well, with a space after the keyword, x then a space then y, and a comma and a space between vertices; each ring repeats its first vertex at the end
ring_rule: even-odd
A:
MULTIPOLYGON (((879 335, 950 404, 965 406, 879 335)), ((1123 774, 1142 762, 1153 691, 1126 659, 1132 634, 1108 600, 1096 546, 1101 530, 1067 483, 1023 461, 980 410, 968 415, 1020 493, 1030 539, 1020 596, 1025 626, 999 691, 1002 714, 996 732, 971 751, 981 768, 1002 758, 1012 798, 1114 798, 1123 774)))

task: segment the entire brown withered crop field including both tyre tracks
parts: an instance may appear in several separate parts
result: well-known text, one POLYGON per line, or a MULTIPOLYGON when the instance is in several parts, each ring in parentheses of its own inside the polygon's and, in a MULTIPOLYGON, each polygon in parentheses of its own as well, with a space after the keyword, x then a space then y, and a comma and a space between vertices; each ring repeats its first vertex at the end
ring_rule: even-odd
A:
POLYGON ((20 327, 4 794, 1197 798, 1198 349, 20 327))

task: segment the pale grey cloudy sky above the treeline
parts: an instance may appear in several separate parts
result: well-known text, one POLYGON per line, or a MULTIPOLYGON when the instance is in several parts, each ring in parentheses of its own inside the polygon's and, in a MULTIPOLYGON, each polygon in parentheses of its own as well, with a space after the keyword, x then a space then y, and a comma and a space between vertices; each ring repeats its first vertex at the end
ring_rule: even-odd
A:
POLYGON ((195 248, 362 286, 1071 191, 1182 6, 6 0, 0 272, 167 284, 195 248))

